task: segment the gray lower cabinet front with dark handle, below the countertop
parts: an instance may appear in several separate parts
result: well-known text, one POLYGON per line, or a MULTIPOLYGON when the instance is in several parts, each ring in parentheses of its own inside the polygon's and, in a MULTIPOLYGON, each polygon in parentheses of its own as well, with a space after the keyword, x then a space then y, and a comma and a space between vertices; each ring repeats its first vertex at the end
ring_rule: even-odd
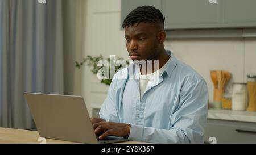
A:
POLYGON ((208 119, 204 141, 210 137, 217 143, 256 143, 256 123, 208 119))

